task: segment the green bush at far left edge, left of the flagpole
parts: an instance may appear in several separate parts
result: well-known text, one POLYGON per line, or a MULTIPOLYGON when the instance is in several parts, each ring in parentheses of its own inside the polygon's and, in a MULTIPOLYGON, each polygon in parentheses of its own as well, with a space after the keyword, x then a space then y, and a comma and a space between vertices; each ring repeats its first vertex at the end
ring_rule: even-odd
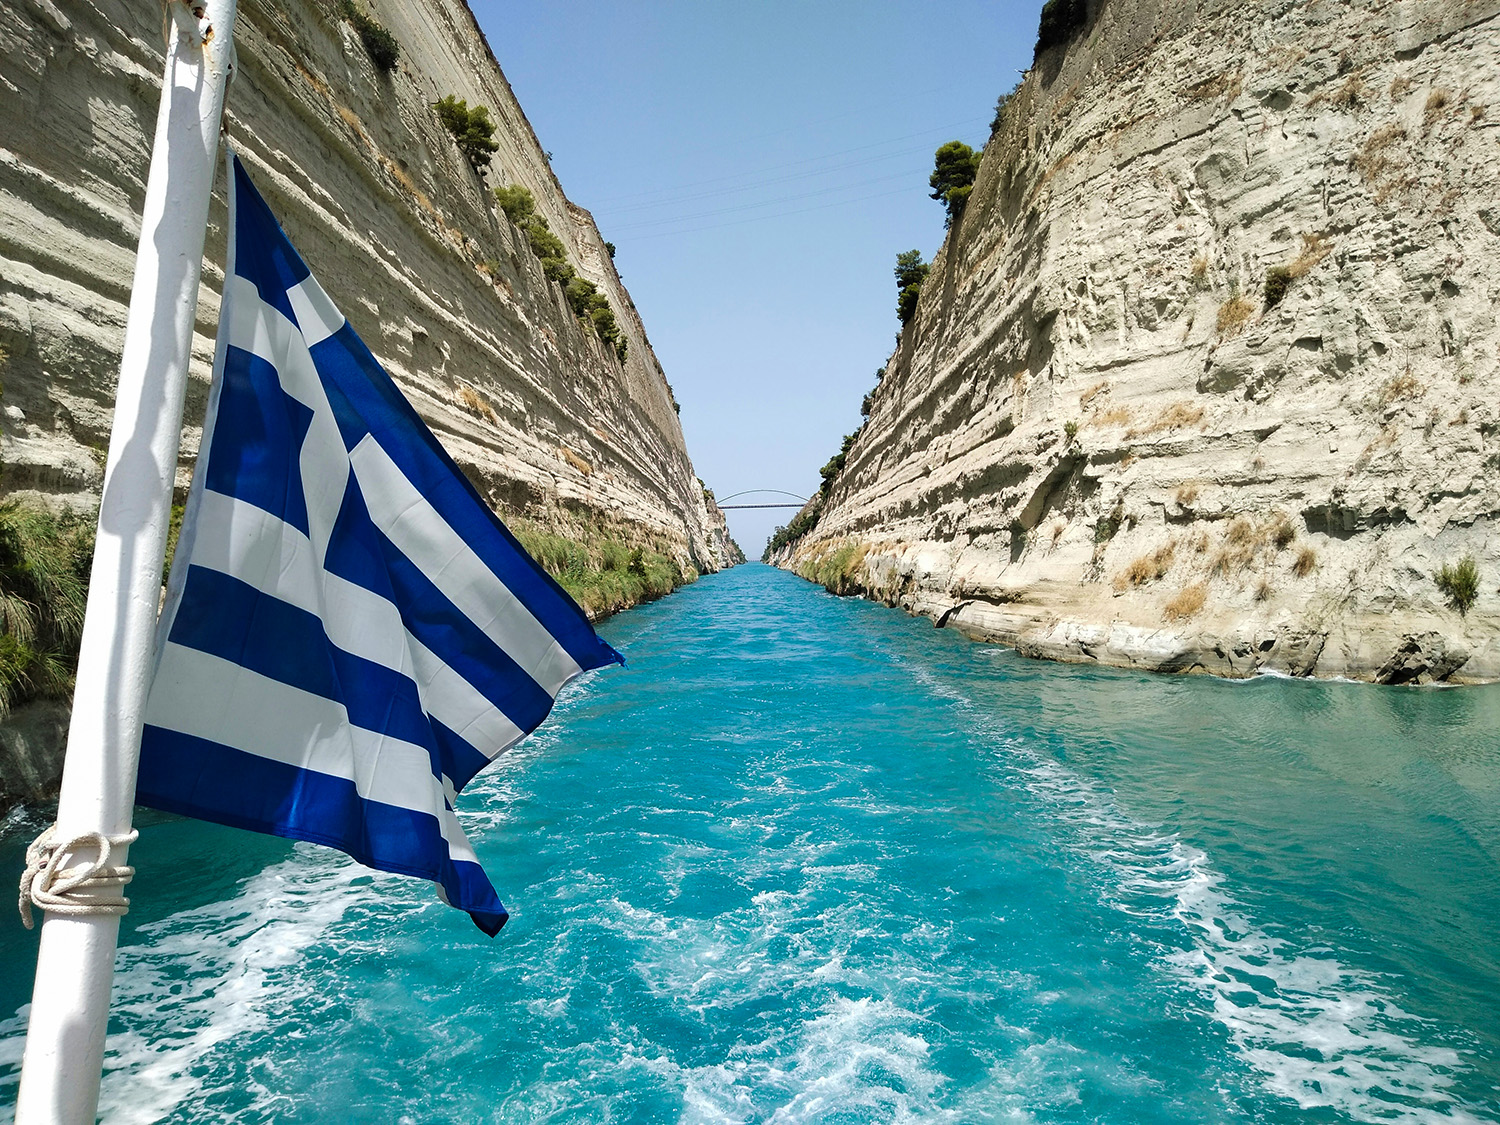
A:
POLYGON ((0 504, 0 716, 72 692, 93 536, 90 518, 0 504))

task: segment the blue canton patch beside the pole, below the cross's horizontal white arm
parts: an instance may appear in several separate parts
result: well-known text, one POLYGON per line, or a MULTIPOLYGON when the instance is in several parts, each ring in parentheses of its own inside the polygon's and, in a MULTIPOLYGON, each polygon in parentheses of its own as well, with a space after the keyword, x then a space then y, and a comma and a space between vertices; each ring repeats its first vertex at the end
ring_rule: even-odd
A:
POLYGON ((297 453, 312 411, 282 390, 276 368, 238 348, 224 357, 206 488, 270 512, 308 534, 297 453))

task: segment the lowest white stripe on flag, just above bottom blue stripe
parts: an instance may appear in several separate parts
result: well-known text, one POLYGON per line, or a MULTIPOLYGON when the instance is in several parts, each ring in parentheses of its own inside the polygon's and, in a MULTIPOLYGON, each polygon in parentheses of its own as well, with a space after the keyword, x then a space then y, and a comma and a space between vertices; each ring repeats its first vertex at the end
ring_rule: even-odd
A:
POLYGON ((366 801, 436 818, 448 854, 476 861, 420 746, 354 726, 332 699, 170 642, 156 680, 168 690, 152 693, 152 726, 352 782, 366 801))

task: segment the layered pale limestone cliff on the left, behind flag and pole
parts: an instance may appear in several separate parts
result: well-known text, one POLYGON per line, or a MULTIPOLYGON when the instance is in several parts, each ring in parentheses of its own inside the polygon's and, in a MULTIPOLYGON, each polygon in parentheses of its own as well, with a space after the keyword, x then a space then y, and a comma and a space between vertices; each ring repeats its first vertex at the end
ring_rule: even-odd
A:
MULTIPOLYGON (((588 212, 562 194, 468 8, 376 0, 360 10, 399 42, 393 72, 372 64, 334 0, 240 4, 228 136, 286 232, 496 508, 564 536, 650 544, 681 572, 717 570, 730 560, 724 520, 693 474, 630 294, 588 212), (484 174, 434 111, 447 94, 489 106, 500 148, 484 174), (492 188, 508 183, 531 190, 572 267, 608 297, 622 362, 496 210, 492 188)), ((3 495, 98 501, 162 54, 156 3, 0 8, 3 495)), ((224 218, 220 195, 183 489, 207 396, 224 218)), ((0 741, 39 736, 18 730, 0 741)))

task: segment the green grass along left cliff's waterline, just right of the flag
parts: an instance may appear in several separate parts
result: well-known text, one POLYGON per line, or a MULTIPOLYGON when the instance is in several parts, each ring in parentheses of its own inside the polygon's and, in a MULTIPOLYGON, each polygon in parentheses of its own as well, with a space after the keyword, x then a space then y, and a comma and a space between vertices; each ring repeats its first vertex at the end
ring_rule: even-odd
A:
POLYGON ((632 546, 592 526, 584 528, 580 538, 572 538, 528 519, 510 518, 506 525, 594 620, 698 580, 696 570, 682 570, 656 549, 658 544, 632 546))

